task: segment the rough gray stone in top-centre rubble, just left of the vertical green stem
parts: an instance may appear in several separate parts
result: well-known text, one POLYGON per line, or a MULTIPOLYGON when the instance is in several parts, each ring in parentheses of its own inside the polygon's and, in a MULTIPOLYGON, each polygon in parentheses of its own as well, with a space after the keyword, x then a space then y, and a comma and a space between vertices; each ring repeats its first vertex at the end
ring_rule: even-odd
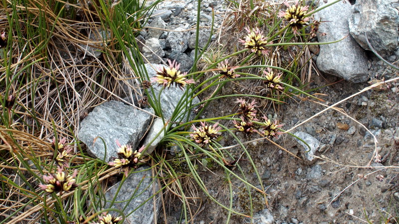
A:
POLYGON ((189 38, 190 38, 190 31, 182 31, 187 30, 190 28, 189 24, 185 26, 180 26, 176 28, 176 31, 180 32, 170 32, 168 37, 166 38, 166 47, 171 49, 173 53, 183 53, 188 45, 189 45, 189 38))

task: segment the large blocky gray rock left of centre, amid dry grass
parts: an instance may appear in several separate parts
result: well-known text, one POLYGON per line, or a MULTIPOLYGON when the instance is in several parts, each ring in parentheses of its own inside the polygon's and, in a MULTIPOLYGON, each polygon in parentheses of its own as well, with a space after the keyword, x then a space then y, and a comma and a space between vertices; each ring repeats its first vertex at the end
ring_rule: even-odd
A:
POLYGON ((136 110, 121 102, 105 102, 95 107, 82 120, 78 137, 87 145, 87 152, 101 160, 104 159, 105 147, 103 141, 97 137, 104 139, 107 147, 104 161, 108 162, 111 157, 117 155, 117 139, 122 145, 131 144, 133 149, 139 146, 139 140, 151 121, 150 113, 154 112, 152 109, 144 111, 136 110))

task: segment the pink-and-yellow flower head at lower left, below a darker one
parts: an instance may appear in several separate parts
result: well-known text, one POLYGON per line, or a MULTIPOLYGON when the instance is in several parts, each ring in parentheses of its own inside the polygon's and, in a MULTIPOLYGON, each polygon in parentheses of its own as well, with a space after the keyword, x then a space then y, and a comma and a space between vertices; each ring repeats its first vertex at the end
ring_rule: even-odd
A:
POLYGON ((43 176, 43 180, 46 184, 40 184, 39 186, 49 194, 53 192, 73 191, 76 188, 76 175, 77 170, 70 175, 63 171, 61 167, 58 167, 57 172, 43 176))

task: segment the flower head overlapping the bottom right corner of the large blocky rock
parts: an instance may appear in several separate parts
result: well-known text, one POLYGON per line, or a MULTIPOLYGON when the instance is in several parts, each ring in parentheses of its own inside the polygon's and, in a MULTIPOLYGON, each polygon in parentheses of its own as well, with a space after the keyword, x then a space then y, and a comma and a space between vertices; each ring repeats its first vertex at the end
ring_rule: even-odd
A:
POLYGON ((114 159, 112 162, 109 162, 108 165, 114 166, 116 168, 121 167, 121 170, 125 171, 125 175, 127 175, 130 168, 136 168, 144 146, 133 152, 132 146, 130 145, 121 145, 119 141, 117 141, 117 145, 119 146, 118 158, 114 159))

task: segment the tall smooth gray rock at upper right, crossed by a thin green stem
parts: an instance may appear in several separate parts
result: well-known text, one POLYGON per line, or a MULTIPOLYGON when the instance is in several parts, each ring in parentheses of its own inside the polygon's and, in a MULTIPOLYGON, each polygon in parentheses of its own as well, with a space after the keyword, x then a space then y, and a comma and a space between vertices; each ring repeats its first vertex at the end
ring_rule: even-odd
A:
MULTIPOLYGON (((320 1, 320 6, 323 4, 325 3, 320 1)), ((320 45, 317 67, 324 73, 360 83, 368 80, 367 57, 364 50, 349 35, 348 17, 351 11, 351 4, 339 1, 315 14, 316 19, 328 21, 322 22, 319 27, 319 42, 330 42, 347 36, 338 43, 320 45)))

